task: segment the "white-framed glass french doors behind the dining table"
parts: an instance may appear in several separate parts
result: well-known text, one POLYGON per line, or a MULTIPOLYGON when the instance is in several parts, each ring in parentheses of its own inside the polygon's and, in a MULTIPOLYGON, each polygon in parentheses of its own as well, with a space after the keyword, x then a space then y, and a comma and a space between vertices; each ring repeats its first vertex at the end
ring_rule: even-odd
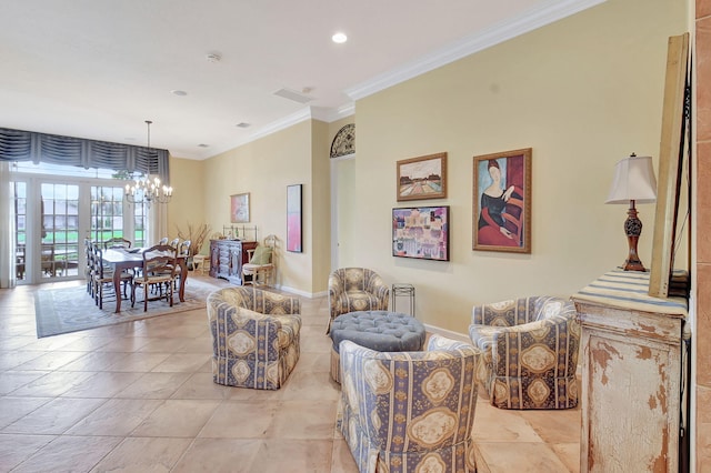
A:
POLYGON ((123 236, 144 245, 144 207, 124 202, 120 182, 100 181, 40 175, 13 181, 18 284, 83 279, 84 238, 123 236))

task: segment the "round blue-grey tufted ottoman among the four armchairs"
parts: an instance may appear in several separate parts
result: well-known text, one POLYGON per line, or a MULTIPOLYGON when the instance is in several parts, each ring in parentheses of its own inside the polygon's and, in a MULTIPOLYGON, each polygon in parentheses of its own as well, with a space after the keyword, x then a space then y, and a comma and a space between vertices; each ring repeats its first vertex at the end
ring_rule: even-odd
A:
POLYGON ((350 340, 379 352, 418 351, 424 344, 424 325, 399 312, 360 311, 339 315, 331 324, 331 378, 341 382, 339 345, 350 340))

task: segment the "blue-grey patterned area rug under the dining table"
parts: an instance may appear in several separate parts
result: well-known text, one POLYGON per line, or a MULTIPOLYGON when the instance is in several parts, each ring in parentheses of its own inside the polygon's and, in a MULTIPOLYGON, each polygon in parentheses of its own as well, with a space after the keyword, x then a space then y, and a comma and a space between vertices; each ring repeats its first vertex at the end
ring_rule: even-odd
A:
POLYGON ((113 313, 116 301, 104 300, 103 310, 94 305, 93 299, 83 285, 39 290, 34 299, 34 314, 37 319, 37 336, 59 335, 60 333, 77 332, 96 329, 117 323, 150 319, 178 312, 204 309, 210 292, 220 289, 220 284, 191 279, 186 280, 186 301, 180 302, 178 293, 173 299, 173 306, 166 301, 150 301, 148 312, 143 312, 142 294, 138 295, 136 306, 131 302, 121 301, 121 312, 113 313))

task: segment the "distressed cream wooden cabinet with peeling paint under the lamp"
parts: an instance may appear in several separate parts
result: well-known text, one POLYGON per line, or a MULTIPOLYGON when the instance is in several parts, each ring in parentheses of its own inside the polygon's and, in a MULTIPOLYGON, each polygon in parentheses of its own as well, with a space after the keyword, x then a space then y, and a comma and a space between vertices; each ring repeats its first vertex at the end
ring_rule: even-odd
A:
POLYGON ((572 296, 581 323, 581 472, 679 472, 684 463, 687 298, 648 295, 611 271, 572 296))

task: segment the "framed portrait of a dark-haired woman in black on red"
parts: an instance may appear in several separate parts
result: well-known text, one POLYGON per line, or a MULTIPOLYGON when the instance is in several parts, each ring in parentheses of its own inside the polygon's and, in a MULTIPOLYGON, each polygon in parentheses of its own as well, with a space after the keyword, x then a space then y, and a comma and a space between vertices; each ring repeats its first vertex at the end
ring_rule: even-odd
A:
POLYGON ((531 252, 531 148, 473 158, 472 249, 531 252))

